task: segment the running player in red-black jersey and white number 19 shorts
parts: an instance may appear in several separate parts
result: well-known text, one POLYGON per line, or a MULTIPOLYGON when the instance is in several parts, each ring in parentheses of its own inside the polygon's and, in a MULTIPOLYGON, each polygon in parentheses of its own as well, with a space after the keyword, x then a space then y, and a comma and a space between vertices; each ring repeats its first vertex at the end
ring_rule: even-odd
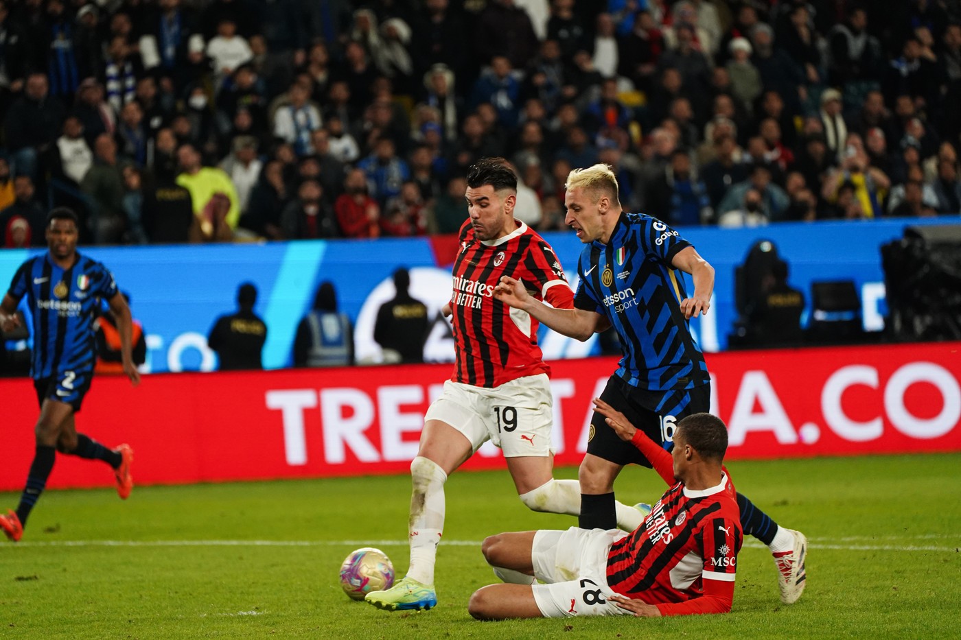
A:
MULTIPOLYGON (((521 502, 534 511, 577 515, 577 480, 554 480, 549 367, 537 346, 537 321, 493 297, 510 275, 554 307, 571 308, 573 294, 554 250, 514 220, 517 177, 505 160, 487 158, 467 174, 469 219, 460 229, 454 262, 456 364, 443 395, 425 415, 417 457, 410 463, 413 492, 407 577, 367 594, 382 609, 430 609, 437 543, 444 528, 444 482, 491 440, 504 451, 521 502)), ((632 530, 643 514, 616 504, 617 526, 632 530)))

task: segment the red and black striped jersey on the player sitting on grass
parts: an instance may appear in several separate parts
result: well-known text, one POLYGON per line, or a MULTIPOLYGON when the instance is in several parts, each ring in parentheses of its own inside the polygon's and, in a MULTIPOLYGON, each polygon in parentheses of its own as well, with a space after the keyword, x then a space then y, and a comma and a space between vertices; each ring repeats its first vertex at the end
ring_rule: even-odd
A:
MULTIPOLYGON (((636 441, 647 436, 642 431, 638 433, 635 444, 645 454, 659 457, 655 468, 662 477, 670 477, 664 467, 671 468, 671 455, 656 445, 642 448, 636 441)), ((718 612, 725 605, 729 610, 743 538, 734 485, 727 469, 719 484, 701 491, 676 482, 640 527, 611 546, 607 582, 611 589, 628 598, 658 605, 665 615, 718 612), (710 589, 710 593, 727 596, 727 603, 718 603, 720 608, 672 604, 689 603, 707 595, 705 582, 720 587, 710 589)))

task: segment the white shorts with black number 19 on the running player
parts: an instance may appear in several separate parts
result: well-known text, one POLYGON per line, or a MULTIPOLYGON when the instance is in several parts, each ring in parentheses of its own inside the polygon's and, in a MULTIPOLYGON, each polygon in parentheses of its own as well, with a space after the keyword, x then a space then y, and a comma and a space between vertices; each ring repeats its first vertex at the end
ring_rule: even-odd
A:
POLYGON ((474 453, 490 440, 505 457, 546 457, 554 454, 553 406, 546 374, 518 378, 492 389, 449 380, 424 420, 440 420, 454 427, 470 440, 474 453))

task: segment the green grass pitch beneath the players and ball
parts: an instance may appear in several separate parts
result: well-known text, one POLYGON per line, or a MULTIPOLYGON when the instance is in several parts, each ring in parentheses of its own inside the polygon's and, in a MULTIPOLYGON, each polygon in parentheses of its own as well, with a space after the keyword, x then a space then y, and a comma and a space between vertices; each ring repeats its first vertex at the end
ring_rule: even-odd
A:
MULTIPOLYGON (((799 603, 781 605, 774 563, 749 541, 727 616, 476 622, 467 601, 495 580, 485 535, 576 523, 530 512, 505 471, 463 472, 447 484, 439 603, 419 613, 352 602, 337 582, 343 558, 370 544, 403 575, 407 477, 137 487, 126 503, 106 489, 48 491, 23 540, 0 542, 0 637, 961 637, 961 454, 729 468, 755 504, 807 534, 799 603)), ((617 488, 653 502, 664 487, 629 468, 617 488)), ((0 506, 16 499, 0 494, 0 506)))

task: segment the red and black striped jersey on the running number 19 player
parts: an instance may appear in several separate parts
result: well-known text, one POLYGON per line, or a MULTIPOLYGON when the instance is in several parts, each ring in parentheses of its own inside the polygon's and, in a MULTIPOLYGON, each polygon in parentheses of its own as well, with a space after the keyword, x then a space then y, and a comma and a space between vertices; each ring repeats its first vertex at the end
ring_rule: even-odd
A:
POLYGON ((537 346, 538 322, 496 300, 494 287, 501 276, 510 276, 556 308, 573 308, 574 294, 551 245, 523 222, 518 225, 496 240, 478 239, 470 220, 460 228, 451 296, 455 382, 495 387, 550 374, 537 346))

